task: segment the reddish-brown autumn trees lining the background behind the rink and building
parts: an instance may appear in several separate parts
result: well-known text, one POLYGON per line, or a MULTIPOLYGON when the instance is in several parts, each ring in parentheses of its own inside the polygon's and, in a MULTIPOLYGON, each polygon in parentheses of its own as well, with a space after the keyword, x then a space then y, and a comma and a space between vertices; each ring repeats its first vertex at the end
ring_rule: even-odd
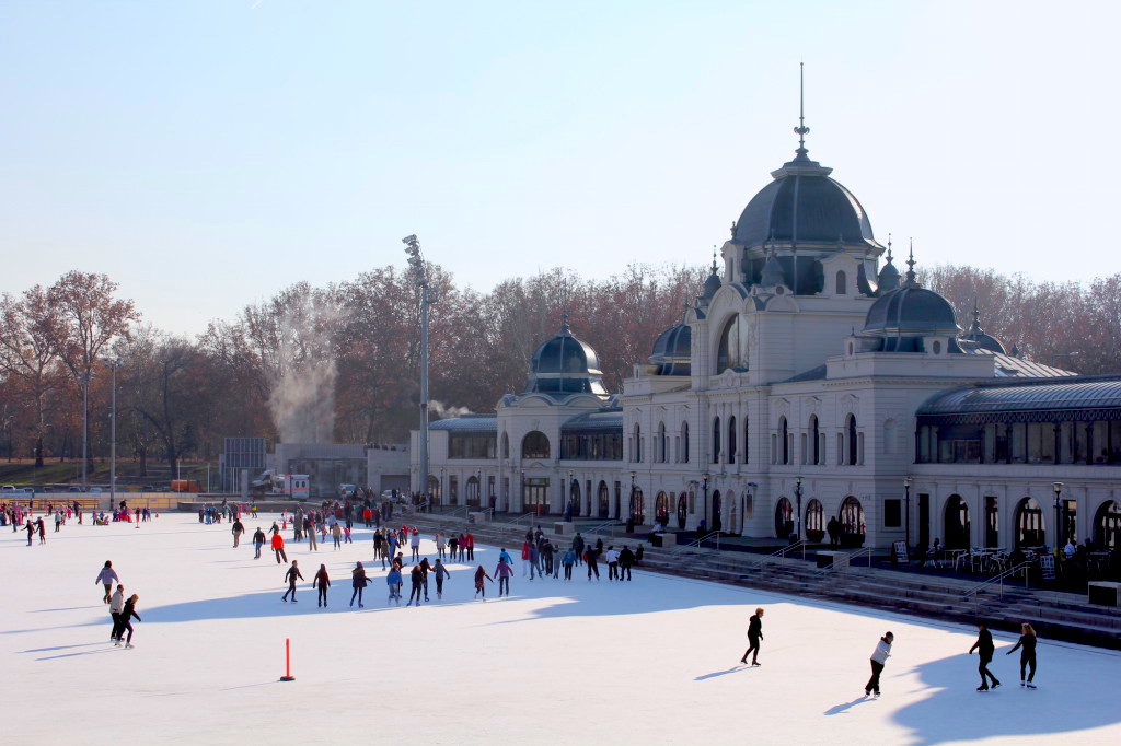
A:
MULTIPOLYGON (((490 411, 524 385, 534 349, 565 310, 618 390, 703 276, 700 267, 632 265, 590 280, 554 269, 481 293, 433 267, 433 397, 450 411, 490 411)), ((1121 274, 1053 283, 944 265, 921 279, 963 327, 976 302, 985 330, 1026 357, 1121 371, 1121 274)), ((108 277, 68 272, 0 300, 0 455, 80 457, 87 383, 91 455, 105 456, 105 360, 119 361, 120 453, 166 460, 173 473, 180 458, 215 458, 224 436, 401 441, 416 420, 418 325, 417 289, 395 267, 322 288, 294 285, 195 339, 142 324, 108 277)))

